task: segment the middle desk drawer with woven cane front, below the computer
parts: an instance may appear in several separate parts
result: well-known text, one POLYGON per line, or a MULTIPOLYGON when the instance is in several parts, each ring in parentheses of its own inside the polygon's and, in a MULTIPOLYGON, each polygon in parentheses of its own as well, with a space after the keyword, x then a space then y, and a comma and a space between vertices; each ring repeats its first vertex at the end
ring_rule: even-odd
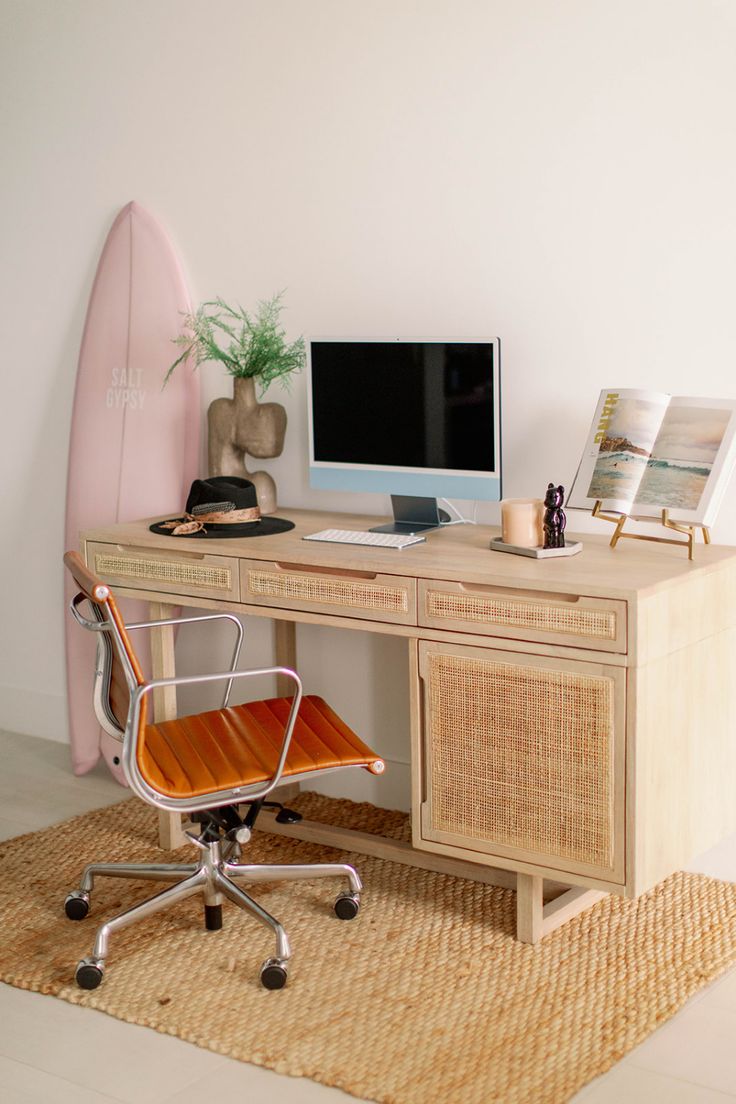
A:
POLYGON ((338 567, 249 560, 241 564, 243 602, 279 609, 416 625, 416 581, 338 567))

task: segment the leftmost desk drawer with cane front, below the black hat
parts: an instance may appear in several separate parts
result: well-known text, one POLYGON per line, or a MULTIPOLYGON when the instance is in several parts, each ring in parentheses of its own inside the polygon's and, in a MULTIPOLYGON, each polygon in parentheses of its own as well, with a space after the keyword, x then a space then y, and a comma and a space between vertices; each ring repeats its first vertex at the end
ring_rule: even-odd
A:
POLYGON ((111 586, 239 601, 237 560, 230 556, 89 543, 87 563, 111 586))

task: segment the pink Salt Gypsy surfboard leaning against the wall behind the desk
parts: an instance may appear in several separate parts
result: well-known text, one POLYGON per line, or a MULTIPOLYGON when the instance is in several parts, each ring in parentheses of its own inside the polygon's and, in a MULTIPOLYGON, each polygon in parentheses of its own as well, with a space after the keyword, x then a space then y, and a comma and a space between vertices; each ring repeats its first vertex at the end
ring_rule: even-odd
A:
MULTIPOLYGON (((105 242, 89 297, 74 393, 66 485, 66 544, 79 531, 181 511, 200 466, 200 386, 177 357, 190 298, 175 254, 158 222, 128 203, 105 242)), ((94 564, 92 565, 94 567, 94 564)), ((65 573, 65 605, 75 593, 65 573)), ((145 620, 143 603, 124 603, 145 620)), ((75 774, 105 757, 124 783, 120 744, 93 712, 94 634, 65 609, 70 741, 75 774), (117 762, 116 762, 117 760, 117 762)), ((142 637, 137 641, 142 645, 142 637)))

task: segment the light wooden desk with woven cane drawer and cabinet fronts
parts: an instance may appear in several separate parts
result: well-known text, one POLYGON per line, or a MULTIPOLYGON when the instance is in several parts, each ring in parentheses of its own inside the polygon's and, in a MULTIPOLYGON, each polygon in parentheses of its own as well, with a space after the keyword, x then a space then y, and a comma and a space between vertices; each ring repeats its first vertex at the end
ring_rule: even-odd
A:
MULTIPOLYGON (((310 822, 276 826, 518 885, 534 943, 601 892, 636 896, 736 831, 736 550, 585 537, 569 559, 490 552, 494 530, 454 526, 375 550, 302 541, 375 519, 285 508, 296 529, 201 541, 146 522, 82 535, 88 565, 122 595, 295 625, 406 638, 413 846, 310 822), (573 889, 544 904, 545 887, 573 889)), ((171 630, 156 675, 173 673, 171 630)), ((170 691, 157 702, 171 715, 170 691)), ((177 841, 169 817, 163 839, 177 841)), ((548 894, 547 894, 548 895, 548 894)))

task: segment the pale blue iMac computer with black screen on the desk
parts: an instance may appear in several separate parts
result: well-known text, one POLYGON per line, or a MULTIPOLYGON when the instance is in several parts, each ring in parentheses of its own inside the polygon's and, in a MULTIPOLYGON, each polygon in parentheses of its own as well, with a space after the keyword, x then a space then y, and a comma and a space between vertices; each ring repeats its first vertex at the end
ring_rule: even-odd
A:
POLYGON ((498 338, 313 338, 307 351, 309 479, 391 495, 394 522, 441 524, 437 498, 501 498, 498 338))

